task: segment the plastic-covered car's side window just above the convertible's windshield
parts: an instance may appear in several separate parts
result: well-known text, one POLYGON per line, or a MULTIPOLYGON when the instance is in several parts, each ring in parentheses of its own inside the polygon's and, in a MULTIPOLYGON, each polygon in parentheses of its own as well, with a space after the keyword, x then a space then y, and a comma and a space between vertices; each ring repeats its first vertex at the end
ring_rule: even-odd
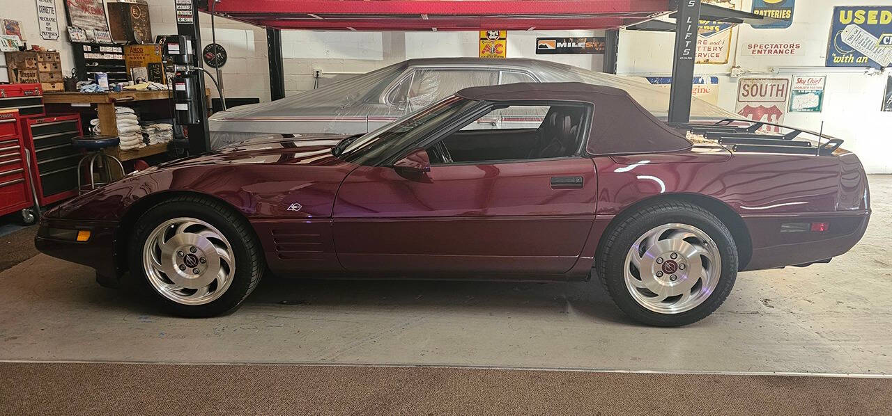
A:
POLYGON ((424 107, 468 86, 494 86, 499 71, 491 69, 417 69, 409 87, 409 105, 424 107))

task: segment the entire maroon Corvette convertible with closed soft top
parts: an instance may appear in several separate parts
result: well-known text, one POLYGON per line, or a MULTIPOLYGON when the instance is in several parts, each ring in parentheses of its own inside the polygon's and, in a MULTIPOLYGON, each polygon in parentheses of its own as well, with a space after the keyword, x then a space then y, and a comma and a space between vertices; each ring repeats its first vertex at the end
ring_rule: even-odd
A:
POLYGON ((103 285, 129 272, 183 316, 234 310, 268 270, 596 276, 633 319, 684 325, 739 271, 830 261, 867 227, 855 154, 766 127, 781 128, 669 125, 607 86, 472 87, 365 135, 267 136, 150 167, 48 211, 36 245, 103 285), (521 107, 543 110, 540 126, 479 123, 521 107))

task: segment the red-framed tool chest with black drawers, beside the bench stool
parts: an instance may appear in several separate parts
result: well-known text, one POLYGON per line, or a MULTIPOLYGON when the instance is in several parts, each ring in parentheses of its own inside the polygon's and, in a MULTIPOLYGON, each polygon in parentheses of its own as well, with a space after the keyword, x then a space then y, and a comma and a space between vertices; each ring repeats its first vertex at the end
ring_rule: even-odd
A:
POLYGON ((77 195, 78 164, 84 155, 71 147, 71 138, 83 135, 80 115, 22 118, 21 126, 35 167, 40 205, 77 195))

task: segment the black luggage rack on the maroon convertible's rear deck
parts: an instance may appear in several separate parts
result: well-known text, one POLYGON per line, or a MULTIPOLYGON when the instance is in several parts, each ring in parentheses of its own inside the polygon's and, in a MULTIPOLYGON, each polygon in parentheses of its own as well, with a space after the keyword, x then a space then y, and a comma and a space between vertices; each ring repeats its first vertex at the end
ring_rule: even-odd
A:
MULTIPOLYGON (((690 130, 694 135, 703 135, 706 139, 714 140, 730 148, 731 151, 758 151, 765 153, 792 153, 811 154, 815 156, 827 156, 836 151, 843 141, 830 139, 827 143, 814 146, 811 142, 794 140, 803 133, 792 127, 779 126, 761 121, 739 120, 725 118, 712 125, 673 123, 671 126, 690 130), (732 126, 732 123, 749 123, 747 126, 732 126), (789 129, 785 135, 771 135, 756 133, 763 126, 779 126, 789 129)), ((818 143, 822 137, 818 136, 818 143)))

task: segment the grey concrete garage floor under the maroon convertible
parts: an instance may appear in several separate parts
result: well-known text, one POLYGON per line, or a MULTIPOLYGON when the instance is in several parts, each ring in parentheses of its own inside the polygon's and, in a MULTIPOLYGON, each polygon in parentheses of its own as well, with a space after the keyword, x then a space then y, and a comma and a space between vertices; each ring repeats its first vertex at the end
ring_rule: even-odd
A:
POLYGON ((597 283, 260 283, 235 314, 159 315, 133 288, 43 255, 0 273, 0 360, 380 363, 892 374, 892 176, 829 265, 741 273, 711 317, 627 321, 597 283))

